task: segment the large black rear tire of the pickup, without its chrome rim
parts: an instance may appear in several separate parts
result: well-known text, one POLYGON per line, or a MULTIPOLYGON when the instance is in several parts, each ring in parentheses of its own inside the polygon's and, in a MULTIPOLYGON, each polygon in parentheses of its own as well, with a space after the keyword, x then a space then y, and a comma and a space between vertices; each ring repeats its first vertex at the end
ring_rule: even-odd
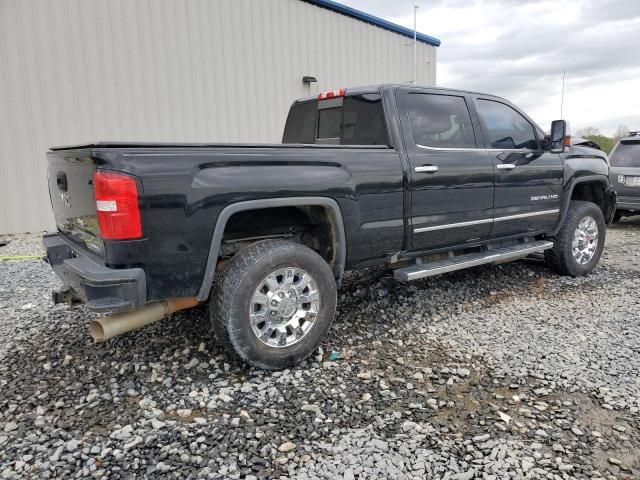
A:
POLYGON ((268 370, 291 367, 311 355, 325 338, 336 311, 336 281, 327 262, 303 245, 282 240, 254 243, 236 253, 217 275, 209 306, 214 333, 237 359, 268 370), (286 347, 270 347, 254 334, 251 298, 270 273, 300 268, 314 279, 320 307, 306 335, 286 347))

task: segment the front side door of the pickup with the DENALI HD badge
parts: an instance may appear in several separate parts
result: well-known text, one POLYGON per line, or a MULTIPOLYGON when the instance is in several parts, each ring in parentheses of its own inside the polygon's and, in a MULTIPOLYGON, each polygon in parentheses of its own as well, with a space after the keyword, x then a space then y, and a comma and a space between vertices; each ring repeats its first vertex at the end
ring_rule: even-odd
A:
POLYGON ((475 106, 496 172, 491 237, 552 230, 562 200, 560 155, 541 148, 539 128, 514 106, 482 96, 475 106))

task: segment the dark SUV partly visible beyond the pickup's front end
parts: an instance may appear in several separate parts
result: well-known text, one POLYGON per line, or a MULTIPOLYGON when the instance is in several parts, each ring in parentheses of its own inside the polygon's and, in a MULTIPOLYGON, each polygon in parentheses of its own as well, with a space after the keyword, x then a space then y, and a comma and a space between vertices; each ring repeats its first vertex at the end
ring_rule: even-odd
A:
POLYGON ((609 156, 610 182, 618 193, 614 220, 640 214, 640 132, 630 132, 609 156))

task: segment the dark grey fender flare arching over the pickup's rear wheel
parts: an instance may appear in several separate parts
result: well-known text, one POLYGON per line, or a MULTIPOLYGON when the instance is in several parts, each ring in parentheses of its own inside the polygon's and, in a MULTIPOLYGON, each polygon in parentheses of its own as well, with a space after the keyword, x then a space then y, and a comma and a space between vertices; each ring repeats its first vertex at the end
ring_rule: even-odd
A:
POLYGON ((342 220, 342 212, 338 202, 328 197, 285 197, 285 198, 266 198, 260 200, 247 200, 244 202, 232 203, 222 209, 216 225, 213 230, 213 236, 211 238, 211 245, 209 246, 209 255, 207 257, 207 265, 204 271, 204 277, 200 290, 196 295, 196 298, 201 302, 209 298, 211 293, 211 287, 213 286, 213 280, 216 274, 216 265, 218 254, 220 252, 220 245, 222 244, 222 236, 227 226, 229 219, 238 212, 247 210, 259 210, 273 207, 307 207, 307 206, 321 206, 326 207, 331 212, 332 220, 336 228, 336 259, 333 265, 333 274, 336 277, 336 282, 340 285, 342 281, 342 275, 344 274, 345 263, 347 259, 347 244, 346 235, 344 231, 344 222, 342 220))

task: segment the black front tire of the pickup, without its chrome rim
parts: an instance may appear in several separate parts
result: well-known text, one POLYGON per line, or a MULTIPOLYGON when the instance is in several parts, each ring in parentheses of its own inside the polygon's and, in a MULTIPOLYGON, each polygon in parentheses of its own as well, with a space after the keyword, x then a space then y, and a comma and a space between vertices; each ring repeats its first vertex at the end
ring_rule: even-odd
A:
POLYGON ((572 200, 564 221, 564 225, 558 232, 552 249, 545 252, 547 264, 560 275, 582 277, 590 274, 598 264, 606 238, 606 224, 602 210, 591 202, 572 200), (591 216, 598 226, 598 242, 596 251, 587 263, 580 264, 573 255, 573 236, 580 221, 591 216))

